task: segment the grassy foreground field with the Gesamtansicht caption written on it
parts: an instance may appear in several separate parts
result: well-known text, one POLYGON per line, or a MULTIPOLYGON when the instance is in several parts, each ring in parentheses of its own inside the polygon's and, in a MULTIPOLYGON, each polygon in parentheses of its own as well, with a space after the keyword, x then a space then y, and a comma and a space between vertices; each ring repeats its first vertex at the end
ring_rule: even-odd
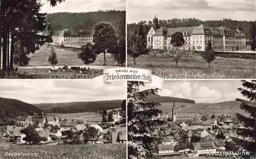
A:
POLYGON ((56 146, 13 146, 8 149, 0 148, 2 158, 40 158, 40 159, 116 159, 126 158, 125 144, 94 144, 94 145, 56 145, 56 146), (5 156, 9 152, 38 153, 37 156, 5 156))

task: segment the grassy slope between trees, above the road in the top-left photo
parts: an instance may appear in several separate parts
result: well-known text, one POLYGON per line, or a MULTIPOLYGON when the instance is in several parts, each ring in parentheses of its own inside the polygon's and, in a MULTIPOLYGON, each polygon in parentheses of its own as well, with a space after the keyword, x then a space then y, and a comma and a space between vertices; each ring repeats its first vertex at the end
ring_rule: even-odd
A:
MULTIPOLYGON (((48 54, 50 47, 45 44, 44 47, 37 50, 34 54, 30 54, 29 65, 33 66, 45 66, 50 65, 48 62, 48 54)), ((77 53, 81 49, 76 48, 59 48, 55 47, 58 63, 57 65, 83 65, 83 62, 77 58, 77 53)), ((99 54, 94 63, 91 65, 103 65, 104 63, 104 54, 99 54)), ((106 54, 106 65, 116 66, 118 63, 114 60, 112 54, 106 54)))

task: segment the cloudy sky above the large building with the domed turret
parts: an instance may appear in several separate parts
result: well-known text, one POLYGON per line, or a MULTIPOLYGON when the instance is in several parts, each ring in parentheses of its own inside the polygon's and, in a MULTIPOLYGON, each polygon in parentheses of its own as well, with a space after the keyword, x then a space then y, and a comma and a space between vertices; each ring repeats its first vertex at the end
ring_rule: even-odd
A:
POLYGON ((129 0, 127 23, 141 20, 198 18, 256 20, 256 0, 129 0))

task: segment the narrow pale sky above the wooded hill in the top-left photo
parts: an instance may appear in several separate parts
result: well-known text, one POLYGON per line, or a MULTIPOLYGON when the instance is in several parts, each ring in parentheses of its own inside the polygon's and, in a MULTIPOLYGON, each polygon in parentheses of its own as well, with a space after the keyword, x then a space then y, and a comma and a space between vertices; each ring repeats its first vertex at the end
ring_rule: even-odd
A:
POLYGON ((47 0, 41 0, 41 3, 44 4, 41 13, 125 10, 125 0, 65 0, 55 7, 51 7, 47 0))

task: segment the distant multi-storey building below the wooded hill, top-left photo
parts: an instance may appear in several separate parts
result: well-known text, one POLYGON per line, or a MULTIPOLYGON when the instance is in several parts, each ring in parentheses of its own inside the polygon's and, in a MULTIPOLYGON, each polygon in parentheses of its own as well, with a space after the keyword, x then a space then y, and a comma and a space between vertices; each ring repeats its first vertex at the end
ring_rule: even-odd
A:
POLYGON ((93 43, 93 34, 89 30, 78 30, 74 33, 71 29, 54 30, 53 43, 66 47, 80 47, 87 43, 93 43))

